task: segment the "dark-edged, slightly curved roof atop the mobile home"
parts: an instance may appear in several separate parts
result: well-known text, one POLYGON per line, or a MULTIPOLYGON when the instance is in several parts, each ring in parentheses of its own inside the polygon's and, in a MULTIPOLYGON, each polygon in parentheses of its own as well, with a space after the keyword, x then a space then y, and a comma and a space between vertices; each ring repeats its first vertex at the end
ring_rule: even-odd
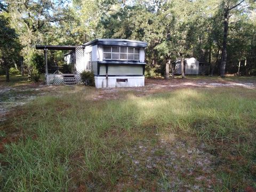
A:
POLYGON ((146 47, 148 44, 142 41, 135 41, 130 39, 114 39, 114 38, 99 38, 83 44, 87 45, 117 45, 117 46, 132 46, 132 47, 146 47))

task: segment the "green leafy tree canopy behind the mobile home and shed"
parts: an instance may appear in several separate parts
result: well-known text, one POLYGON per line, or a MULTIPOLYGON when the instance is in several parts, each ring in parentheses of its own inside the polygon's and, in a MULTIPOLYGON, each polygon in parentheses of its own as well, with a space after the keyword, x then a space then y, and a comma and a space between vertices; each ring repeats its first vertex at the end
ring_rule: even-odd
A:
MULTIPOLYGON (((210 62, 212 74, 236 73, 240 62, 243 74, 255 75, 255 9, 254 0, 10 0, 0 3, 0 16, 2 29, 9 27, 12 38, 2 35, 0 40, 21 47, 10 43, 1 49, 16 50, 13 55, 23 57, 29 69, 38 66, 31 58, 42 54, 35 51, 36 44, 137 39, 148 43, 146 70, 151 75, 169 78, 172 63, 188 57, 210 62)), ((50 52, 49 57, 58 65, 63 53, 50 52)))

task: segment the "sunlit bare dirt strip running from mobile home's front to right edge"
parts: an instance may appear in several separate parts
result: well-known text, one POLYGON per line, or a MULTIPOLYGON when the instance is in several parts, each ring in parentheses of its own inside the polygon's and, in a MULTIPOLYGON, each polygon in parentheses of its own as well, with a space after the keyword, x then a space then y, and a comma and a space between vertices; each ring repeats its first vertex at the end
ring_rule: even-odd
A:
POLYGON ((145 79, 144 87, 116 87, 99 89, 93 100, 120 99, 127 92, 132 92, 137 97, 180 88, 214 88, 214 87, 237 87, 245 89, 256 89, 256 81, 225 81, 218 79, 145 79))

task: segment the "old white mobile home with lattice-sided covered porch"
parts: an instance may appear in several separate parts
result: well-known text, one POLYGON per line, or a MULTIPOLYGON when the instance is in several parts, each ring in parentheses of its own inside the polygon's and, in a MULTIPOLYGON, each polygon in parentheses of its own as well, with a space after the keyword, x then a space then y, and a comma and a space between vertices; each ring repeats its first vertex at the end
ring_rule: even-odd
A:
POLYGON ((97 88, 144 86, 147 43, 129 39, 94 39, 81 46, 37 45, 45 53, 46 84, 82 83, 79 74, 92 71, 97 88), (47 71, 47 50, 70 50, 65 62, 71 74, 47 71))

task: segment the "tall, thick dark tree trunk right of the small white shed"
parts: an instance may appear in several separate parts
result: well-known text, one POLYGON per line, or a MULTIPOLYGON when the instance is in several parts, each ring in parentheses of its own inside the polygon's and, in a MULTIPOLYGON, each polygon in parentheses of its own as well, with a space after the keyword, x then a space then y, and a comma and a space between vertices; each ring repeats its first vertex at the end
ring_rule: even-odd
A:
POLYGON ((221 51, 221 66, 220 66, 220 76, 225 77, 225 68, 227 63, 227 36, 228 36, 228 13, 229 9, 224 11, 224 33, 223 33, 223 42, 222 42, 222 51, 221 51))

